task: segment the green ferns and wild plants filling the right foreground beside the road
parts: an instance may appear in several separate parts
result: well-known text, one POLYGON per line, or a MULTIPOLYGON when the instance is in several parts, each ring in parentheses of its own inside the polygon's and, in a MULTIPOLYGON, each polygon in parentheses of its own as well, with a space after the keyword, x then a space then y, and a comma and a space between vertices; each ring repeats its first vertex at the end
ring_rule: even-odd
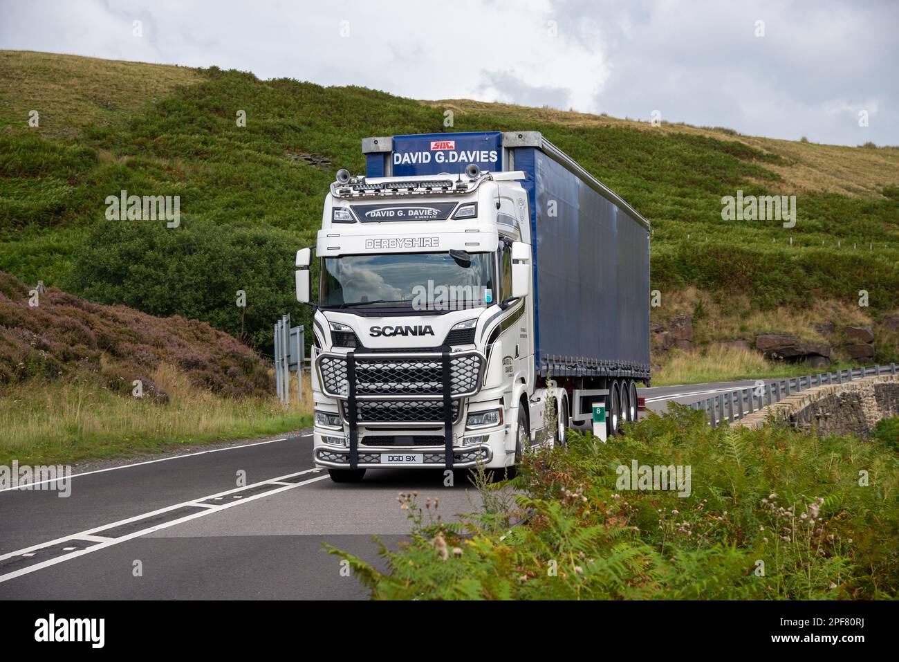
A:
POLYGON ((673 406, 610 443, 529 454, 515 494, 461 523, 401 495, 412 533, 381 545, 386 572, 329 549, 376 599, 895 599, 896 453, 877 436, 713 429, 673 406), (622 489, 635 461, 690 467, 689 494, 622 489))

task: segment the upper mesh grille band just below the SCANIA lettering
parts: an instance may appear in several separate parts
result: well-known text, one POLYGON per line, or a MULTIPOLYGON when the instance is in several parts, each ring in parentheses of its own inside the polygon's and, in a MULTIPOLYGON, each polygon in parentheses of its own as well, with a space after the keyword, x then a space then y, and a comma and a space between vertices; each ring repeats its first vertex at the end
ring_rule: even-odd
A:
MULTIPOLYGON (((461 398, 477 392, 484 359, 478 353, 457 353, 449 358, 449 392, 461 398)), ((322 354, 318 370, 325 394, 347 398, 346 358, 322 354)), ((440 356, 356 356, 356 396, 440 396, 443 393, 440 356)))

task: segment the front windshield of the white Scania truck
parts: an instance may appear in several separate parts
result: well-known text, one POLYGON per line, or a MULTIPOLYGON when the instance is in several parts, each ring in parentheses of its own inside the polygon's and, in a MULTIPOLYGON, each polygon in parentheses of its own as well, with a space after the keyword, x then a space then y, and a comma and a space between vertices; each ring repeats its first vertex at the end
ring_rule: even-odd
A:
POLYGON ((494 254, 343 255, 322 260, 322 308, 458 310, 495 297, 494 254), (469 260, 470 259, 470 263, 469 260))

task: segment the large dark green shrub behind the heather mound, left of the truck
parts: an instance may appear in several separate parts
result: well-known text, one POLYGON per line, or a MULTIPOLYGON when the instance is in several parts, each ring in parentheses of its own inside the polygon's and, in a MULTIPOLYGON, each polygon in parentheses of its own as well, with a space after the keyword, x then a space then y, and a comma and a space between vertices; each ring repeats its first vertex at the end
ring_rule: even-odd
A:
POLYGON ((268 352, 281 315, 309 322, 294 293, 298 247, 289 232, 250 223, 103 220, 76 253, 71 289, 158 317, 200 319, 268 352))

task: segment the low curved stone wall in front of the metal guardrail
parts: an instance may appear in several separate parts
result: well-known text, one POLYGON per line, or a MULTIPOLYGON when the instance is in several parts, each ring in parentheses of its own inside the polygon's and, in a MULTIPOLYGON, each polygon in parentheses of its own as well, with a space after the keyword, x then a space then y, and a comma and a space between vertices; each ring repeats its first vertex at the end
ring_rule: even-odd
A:
POLYGON ((734 421, 734 425, 761 427, 769 413, 818 434, 851 433, 867 439, 881 418, 899 416, 899 375, 807 389, 734 421))

